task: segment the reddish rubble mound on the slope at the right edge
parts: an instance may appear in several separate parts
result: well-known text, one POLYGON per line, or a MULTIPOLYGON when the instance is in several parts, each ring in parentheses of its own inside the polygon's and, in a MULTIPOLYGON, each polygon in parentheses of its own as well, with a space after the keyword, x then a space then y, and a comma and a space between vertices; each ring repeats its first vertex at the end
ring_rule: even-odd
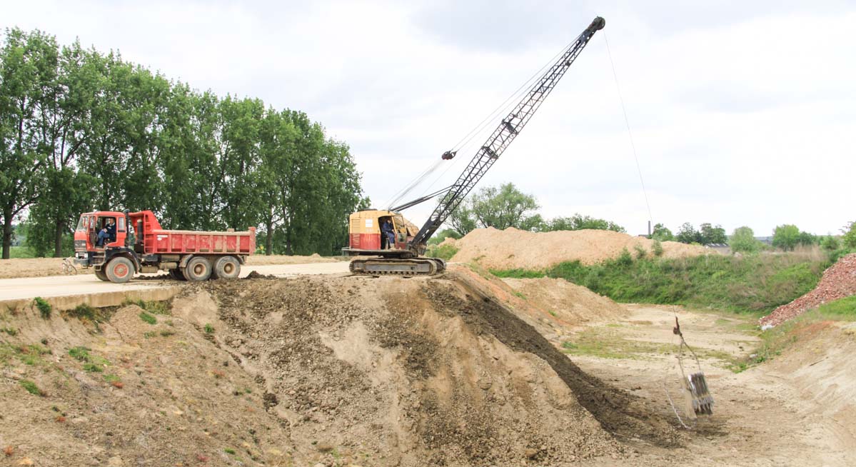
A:
POLYGON ((784 321, 846 296, 856 295, 856 253, 842 256, 823 272, 817 287, 787 305, 782 305, 761 318, 762 325, 776 326, 784 321))

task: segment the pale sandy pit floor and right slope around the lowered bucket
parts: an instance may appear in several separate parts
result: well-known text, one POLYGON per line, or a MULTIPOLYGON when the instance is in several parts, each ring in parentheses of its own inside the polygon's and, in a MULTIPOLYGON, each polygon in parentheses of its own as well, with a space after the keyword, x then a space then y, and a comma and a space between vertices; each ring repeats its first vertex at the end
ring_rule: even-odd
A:
MULTIPOLYGON (((751 351, 752 333, 734 316, 687 313, 677 307, 631 306, 626 319, 591 327, 607 350, 623 357, 572 355, 590 374, 643 398, 671 414, 663 384, 677 396, 679 374, 675 314, 688 344, 702 355, 702 369, 716 400, 714 415, 687 430, 680 447, 663 449, 631 442, 636 455, 626 465, 829 465, 856 462, 856 341, 835 325, 819 326, 773 362, 734 374, 731 356, 751 351), (639 347, 627 342, 647 343, 639 347), (663 347, 663 345, 665 347, 663 347)), ((600 461, 583 465, 609 465, 600 461)))

